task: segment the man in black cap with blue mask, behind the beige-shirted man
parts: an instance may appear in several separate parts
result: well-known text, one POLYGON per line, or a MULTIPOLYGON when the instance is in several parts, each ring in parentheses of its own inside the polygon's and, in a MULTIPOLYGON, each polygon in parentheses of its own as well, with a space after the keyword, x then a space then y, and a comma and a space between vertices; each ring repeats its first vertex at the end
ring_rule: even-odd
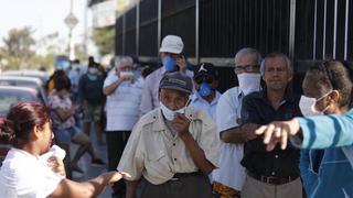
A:
POLYGON ((211 63, 201 63, 194 76, 196 91, 192 95, 191 106, 205 111, 216 122, 216 106, 221 94, 218 87, 218 73, 211 63))

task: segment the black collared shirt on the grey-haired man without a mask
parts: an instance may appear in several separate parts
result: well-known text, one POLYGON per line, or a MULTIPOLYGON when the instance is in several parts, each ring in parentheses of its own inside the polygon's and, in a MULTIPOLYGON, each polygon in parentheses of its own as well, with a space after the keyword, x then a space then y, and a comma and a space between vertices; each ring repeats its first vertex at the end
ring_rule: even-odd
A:
MULTIPOLYGON (((253 92, 243 100, 243 123, 267 124, 271 121, 284 121, 299 116, 301 112, 290 89, 287 89, 278 109, 271 106, 266 89, 253 92)), ((267 152, 263 138, 257 138, 245 144, 242 165, 247 170, 263 176, 298 176, 299 153, 299 150, 292 146, 281 150, 279 145, 274 151, 267 152)))

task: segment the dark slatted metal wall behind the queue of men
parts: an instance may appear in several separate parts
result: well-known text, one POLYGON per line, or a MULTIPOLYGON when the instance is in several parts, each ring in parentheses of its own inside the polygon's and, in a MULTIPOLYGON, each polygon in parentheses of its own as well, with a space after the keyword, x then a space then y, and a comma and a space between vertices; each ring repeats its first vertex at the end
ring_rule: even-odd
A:
POLYGON ((161 38, 180 35, 192 63, 220 67, 226 90, 236 84, 229 73, 238 50, 281 52, 293 61, 300 92, 302 75, 313 63, 353 59, 352 29, 350 0, 142 0, 117 19, 116 54, 157 64, 161 38))

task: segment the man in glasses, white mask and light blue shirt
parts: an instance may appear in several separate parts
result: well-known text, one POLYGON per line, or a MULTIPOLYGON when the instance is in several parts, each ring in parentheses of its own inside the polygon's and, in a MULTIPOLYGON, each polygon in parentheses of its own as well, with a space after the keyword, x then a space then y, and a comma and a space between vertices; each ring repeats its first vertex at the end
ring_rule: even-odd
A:
POLYGON ((243 48, 235 55, 234 72, 238 78, 238 87, 224 92, 216 109, 216 123, 221 138, 220 168, 213 172, 213 190, 221 197, 239 197, 245 179, 243 160, 244 140, 256 125, 240 123, 243 98, 260 89, 261 55, 255 48, 243 48))

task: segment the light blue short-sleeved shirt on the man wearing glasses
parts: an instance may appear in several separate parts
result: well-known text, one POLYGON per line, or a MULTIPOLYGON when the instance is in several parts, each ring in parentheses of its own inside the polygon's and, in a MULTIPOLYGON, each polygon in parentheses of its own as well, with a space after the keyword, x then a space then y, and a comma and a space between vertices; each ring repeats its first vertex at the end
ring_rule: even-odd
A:
MULTIPOLYGON (((216 109, 218 132, 238 127, 244 95, 238 87, 224 92, 216 109)), ((240 165, 243 144, 221 141, 220 168, 212 173, 213 179, 233 189, 240 190, 245 180, 245 168, 240 165)))

